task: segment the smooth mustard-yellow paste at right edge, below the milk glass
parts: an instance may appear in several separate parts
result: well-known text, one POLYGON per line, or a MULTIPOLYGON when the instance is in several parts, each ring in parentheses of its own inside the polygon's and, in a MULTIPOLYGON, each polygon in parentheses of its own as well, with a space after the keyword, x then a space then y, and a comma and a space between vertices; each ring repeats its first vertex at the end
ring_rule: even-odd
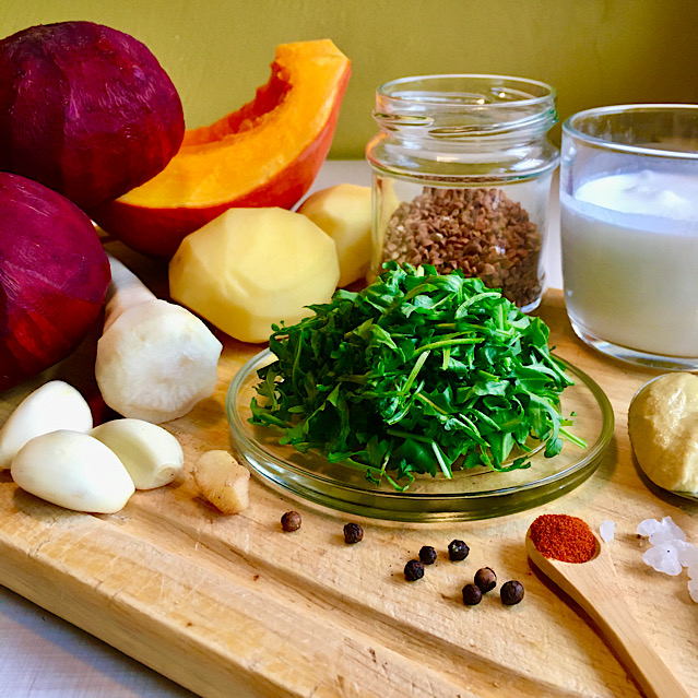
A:
POLYGON ((666 374, 646 383, 630 403, 628 433, 655 485, 698 493, 698 376, 666 374))

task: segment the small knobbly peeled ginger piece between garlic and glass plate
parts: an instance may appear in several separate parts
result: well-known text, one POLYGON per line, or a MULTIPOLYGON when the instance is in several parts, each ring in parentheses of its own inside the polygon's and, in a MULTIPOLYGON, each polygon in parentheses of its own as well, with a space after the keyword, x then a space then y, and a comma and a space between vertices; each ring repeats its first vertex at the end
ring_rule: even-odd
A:
POLYGON ((191 471, 201 494, 223 513, 239 513, 249 506, 250 473, 227 451, 206 451, 191 471))

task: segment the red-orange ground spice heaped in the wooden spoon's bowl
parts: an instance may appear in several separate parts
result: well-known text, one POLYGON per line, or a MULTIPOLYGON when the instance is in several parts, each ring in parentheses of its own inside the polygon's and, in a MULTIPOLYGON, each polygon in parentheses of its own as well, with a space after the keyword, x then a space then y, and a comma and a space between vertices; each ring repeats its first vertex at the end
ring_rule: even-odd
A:
POLYGON ((566 513, 545 513, 529 529, 541 555, 563 563, 587 563, 596 552, 596 537, 589 524, 566 513))

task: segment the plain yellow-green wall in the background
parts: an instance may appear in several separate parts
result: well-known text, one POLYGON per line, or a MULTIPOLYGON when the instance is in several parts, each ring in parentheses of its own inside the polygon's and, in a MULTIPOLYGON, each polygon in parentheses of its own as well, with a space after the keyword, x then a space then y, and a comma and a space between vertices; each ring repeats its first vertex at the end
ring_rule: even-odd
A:
POLYGON ((362 157, 377 85, 482 72, 555 85, 560 117, 698 102, 698 0, 0 0, 0 37, 91 20, 132 34, 177 85, 189 128, 248 102, 277 44, 331 38, 352 59, 331 156, 362 157))

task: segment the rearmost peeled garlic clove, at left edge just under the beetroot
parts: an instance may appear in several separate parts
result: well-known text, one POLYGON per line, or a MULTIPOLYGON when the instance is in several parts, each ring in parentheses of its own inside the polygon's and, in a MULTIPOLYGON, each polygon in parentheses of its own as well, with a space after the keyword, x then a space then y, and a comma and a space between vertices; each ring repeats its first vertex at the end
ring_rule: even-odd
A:
POLYGON ((28 394, 0 428, 0 470, 7 470, 31 439, 57 429, 90 431, 92 411, 86 400, 62 380, 50 380, 28 394))

